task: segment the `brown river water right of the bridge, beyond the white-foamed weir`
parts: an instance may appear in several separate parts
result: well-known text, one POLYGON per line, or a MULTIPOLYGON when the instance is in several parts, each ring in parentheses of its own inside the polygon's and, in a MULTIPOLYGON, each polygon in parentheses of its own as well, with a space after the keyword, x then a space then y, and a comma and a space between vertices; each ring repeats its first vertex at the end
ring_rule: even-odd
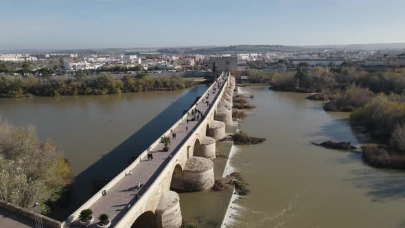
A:
POLYGON ((236 201, 232 227, 404 227, 405 172, 375 169, 361 155, 312 146, 359 145, 348 113, 326 113, 303 93, 245 87, 257 106, 240 122, 264 144, 238 146, 230 163, 251 193, 236 201))

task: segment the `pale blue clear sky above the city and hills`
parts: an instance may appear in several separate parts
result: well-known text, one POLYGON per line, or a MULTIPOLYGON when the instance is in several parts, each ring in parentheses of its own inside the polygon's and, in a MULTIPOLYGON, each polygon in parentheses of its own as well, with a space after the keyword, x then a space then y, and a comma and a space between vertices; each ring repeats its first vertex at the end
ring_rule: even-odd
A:
POLYGON ((405 0, 0 0, 0 49, 405 43, 405 0))

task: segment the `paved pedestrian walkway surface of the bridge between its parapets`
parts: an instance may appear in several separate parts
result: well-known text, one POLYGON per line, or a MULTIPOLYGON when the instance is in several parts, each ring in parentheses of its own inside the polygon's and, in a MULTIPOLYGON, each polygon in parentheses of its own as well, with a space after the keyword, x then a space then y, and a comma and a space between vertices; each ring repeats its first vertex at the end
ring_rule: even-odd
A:
MULTIPOLYGON (((220 80, 220 83, 224 83, 220 80)), ((222 86, 222 84, 221 84, 222 86)), ((227 89, 227 88, 224 88, 227 89)), ((220 89, 216 89, 216 93, 212 93, 213 90, 209 91, 209 104, 211 103, 220 92, 220 89)), ((197 109, 203 111, 204 117, 207 117, 208 106, 205 102, 200 102, 197 105, 197 109)), ((191 111, 190 111, 191 112, 191 111)), ((192 119, 192 114, 189 113, 189 119, 192 119)), ((187 119, 184 119, 181 124, 174 128, 174 133, 176 133, 176 139, 172 139, 170 136, 170 150, 163 152, 163 144, 159 144, 153 148, 153 160, 148 161, 148 159, 143 159, 135 168, 132 170, 132 175, 125 176, 121 181, 115 184, 111 190, 108 190, 105 196, 102 196, 98 201, 91 205, 90 209, 93 211, 93 215, 97 218, 100 214, 107 214, 111 220, 111 227, 114 227, 119 220, 121 220, 126 212, 128 212, 127 205, 134 205, 136 203, 135 195, 139 193, 139 196, 147 190, 150 184, 153 183, 154 179, 160 174, 161 170, 165 168, 170 159, 169 155, 173 152, 173 149, 181 143, 181 141, 187 136, 187 134, 192 133, 194 126, 198 122, 203 121, 190 121, 187 124, 187 119), (188 126, 188 132, 186 131, 186 126, 188 126), (137 189, 137 183, 141 182, 145 185, 141 190, 137 189)), ((95 223, 97 219, 95 219, 95 223)))

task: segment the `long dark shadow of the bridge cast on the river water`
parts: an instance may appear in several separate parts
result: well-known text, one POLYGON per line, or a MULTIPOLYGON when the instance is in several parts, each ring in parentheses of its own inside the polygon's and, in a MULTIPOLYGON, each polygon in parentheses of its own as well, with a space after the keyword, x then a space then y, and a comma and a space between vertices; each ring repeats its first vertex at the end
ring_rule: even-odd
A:
MULTIPOLYGON (((150 144, 165 133, 167 128, 170 128, 170 126, 178 121, 183 115, 183 111, 189 109, 196 100, 196 97, 203 95, 207 88, 207 86, 200 85, 190 90, 170 104, 170 106, 167 106, 164 111, 111 150, 111 152, 103 155, 93 165, 78 174, 74 182, 69 185, 69 192, 58 202, 58 205, 65 205, 65 207, 54 209, 54 214, 52 214, 51 218, 62 221, 75 212, 76 209, 97 192, 98 189, 93 187, 93 181, 98 179, 113 179, 117 176, 119 172, 126 168, 128 161, 132 157, 140 155, 143 150, 146 150, 150 144)), ((108 181, 105 181, 106 183, 108 181)))

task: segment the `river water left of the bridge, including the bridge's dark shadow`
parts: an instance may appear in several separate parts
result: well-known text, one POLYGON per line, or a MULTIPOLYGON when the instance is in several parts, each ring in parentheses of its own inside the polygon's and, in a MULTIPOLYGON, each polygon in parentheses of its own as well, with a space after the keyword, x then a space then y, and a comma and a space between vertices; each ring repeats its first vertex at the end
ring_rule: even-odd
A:
POLYGON ((65 220, 94 193, 93 181, 121 172, 206 89, 1 99, 0 115, 17 126, 33 124, 42 139, 64 150, 75 179, 66 208, 52 217, 65 220))

